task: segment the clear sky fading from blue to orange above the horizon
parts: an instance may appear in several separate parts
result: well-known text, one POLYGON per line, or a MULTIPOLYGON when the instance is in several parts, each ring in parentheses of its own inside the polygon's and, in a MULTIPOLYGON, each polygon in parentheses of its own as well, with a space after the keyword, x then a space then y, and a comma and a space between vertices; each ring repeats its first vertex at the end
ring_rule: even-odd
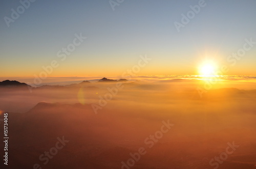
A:
MULTIPOLYGON (((178 33, 174 22, 198 2, 124 0, 113 11, 109 1, 37 0, 8 27, 4 17, 20 3, 2 0, 0 76, 32 77, 53 60, 59 67, 48 76, 121 75, 144 54, 152 61, 138 75, 197 74, 205 60, 230 65, 246 38, 256 42, 256 1, 207 0, 178 33), (80 33, 87 39, 60 61, 57 51, 80 33)), ((255 63, 256 45, 227 74, 255 75, 255 63)))

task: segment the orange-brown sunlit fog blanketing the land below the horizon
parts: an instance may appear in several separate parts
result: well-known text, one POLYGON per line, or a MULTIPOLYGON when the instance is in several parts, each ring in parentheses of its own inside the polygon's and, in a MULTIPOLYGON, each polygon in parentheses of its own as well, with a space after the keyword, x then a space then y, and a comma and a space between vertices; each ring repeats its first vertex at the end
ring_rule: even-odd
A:
POLYGON ((198 89, 205 90, 205 82, 196 77, 139 77, 125 82, 42 86, 32 92, 1 88, 0 109, 13 112, 9 113, 10 151, 17 161, 13 165, 255 168, 254 79, 220 79, 201 97, 198 89), (149 142, 152 139, 147 138, 161 131, 163 121, 172 127, 149 142), (70 142, 45 165, 38 157, 54 146, 58 136, 70 142), (239 147, 218 162, 215 157, 233 142, 239 147), (146 153, 130 166, 130 153, 140 147, 146 153))

